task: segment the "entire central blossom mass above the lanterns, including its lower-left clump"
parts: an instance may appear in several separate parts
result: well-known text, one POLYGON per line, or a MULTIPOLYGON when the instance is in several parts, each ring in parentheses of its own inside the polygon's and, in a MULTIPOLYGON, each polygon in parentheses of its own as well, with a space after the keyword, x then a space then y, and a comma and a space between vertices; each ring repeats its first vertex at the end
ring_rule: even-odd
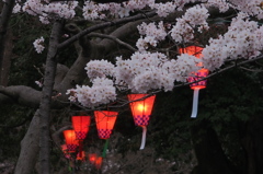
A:
POLYGON ((135 53, 130 59, 116 58, 114 67, 106 60, 92 60, 85 70, 92 86, 77 85, 68 90, 69 100, 85 107, 95 107, 116 98, 116 88, 130 89, 134 93, 147 93, 152 90, 171 91, 174 81, 186 81, 191 72, 196 71, 198 59, 183 54, 178 60, 169 60, 160 53, 135 53), (111 76, 113 80, 105 78, 111 76))

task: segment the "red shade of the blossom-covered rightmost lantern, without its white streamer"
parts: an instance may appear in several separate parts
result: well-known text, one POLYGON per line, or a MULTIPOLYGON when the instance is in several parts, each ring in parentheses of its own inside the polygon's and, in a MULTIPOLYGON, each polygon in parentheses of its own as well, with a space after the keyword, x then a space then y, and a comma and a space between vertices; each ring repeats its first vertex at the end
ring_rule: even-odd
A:
MULTIPOLYGON (((191 56, 195 56, 196 58, 201 58, 203 56, 202 50, 203 50, 203 48, 198 47, 198 46, 188 46, 188 47, 179 49, 180 54, 188 54, 191 56)), ((202 67, 203 63, 201 62, 196 66, 202 67)), ((197 72, 194 72, 193 77, 188 77, 187 81, 188 82, 198 81, 198 80, 207 77, 208 73, 209 73, 208 69, 203 68, 203 69, 198 70, 197 72)), ((205 89, 206 88, 206 82, 207 82, 206 80, 202 80, 202 81, 198 81, 196 83, 190 84, 190 86, 191 86, 192 90, 205 89)))

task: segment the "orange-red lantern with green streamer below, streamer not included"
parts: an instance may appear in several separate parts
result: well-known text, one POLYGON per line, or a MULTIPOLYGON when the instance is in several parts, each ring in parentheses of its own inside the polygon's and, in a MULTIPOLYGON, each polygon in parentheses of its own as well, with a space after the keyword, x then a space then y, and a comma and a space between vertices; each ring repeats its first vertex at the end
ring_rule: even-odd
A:
POLYGON ((110 111, 95 111, 94 115, 99 138, 108 139, 112 134, 118 113, 110 111))

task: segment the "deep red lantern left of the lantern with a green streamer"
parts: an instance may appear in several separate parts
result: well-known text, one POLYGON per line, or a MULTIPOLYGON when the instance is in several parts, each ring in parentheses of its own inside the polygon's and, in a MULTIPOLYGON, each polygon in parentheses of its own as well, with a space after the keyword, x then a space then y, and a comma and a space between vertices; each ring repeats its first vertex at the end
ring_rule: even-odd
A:
POLYGON ((72 126, 78 140, 83 140, 90 129, 90 116, 72 116, 72 126))

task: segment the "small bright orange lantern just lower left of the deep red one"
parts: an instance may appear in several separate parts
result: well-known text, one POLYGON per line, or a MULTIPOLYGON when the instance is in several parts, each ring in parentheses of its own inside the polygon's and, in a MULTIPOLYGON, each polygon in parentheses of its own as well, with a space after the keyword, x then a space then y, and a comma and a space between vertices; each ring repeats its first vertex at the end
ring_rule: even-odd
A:
POLYGON ((79 146, 79 140, 77 140, 75 130, 64 130, 64 137, 66 140, 68 152, 76 152, 79 146))

